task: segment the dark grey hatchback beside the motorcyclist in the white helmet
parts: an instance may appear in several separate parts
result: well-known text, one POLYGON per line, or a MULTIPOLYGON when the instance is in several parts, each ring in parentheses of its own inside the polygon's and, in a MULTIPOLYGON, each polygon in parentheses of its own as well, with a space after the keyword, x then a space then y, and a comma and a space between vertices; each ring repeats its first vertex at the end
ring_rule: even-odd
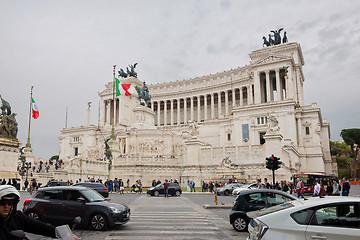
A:
POLYGON ((24 214, 54 225, 72 225, 80 216, 82 226, 104 230, 130 220, 130 208, 106 201, 96 191, 85 187, 40 188, 25 200, 24 214))

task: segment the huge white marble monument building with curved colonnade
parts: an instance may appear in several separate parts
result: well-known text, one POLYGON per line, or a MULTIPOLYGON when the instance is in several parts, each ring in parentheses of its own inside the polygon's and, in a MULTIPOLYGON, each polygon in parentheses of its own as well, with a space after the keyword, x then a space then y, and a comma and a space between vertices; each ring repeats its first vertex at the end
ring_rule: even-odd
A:
MULTIPOLYGON (((330 125, 314 103, 304 105, 300 44, 252 52, 250 64, 199 78, 149 85, 148 107, 136 91, 113 103, 113 83, 100 96, 99 126, 65 128, 59 155, 67 178, 188 179, 271 178, 265 158, 281 158, 278 180, 298 172, 336 174, 330 157, 330 125), (115 106, 115 108, 114 108, 115 106), (111 164, 104 139, 112 128, 111 164), (110 168, 109 168, 110 166, 110 168)), ((142 86, 136 78, 125 83, 142 86)), ((90 111, 90 110, 89 110, 90 111)), ((64 172, 64 173, 65 173, 64 172)), ((66 178, 66 177, 63 177, 66 178)))

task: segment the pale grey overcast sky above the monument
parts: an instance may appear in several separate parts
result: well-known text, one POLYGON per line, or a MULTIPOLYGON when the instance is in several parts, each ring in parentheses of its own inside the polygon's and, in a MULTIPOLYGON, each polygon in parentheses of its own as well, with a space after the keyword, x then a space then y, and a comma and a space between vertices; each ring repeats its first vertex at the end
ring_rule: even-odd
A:
MULTIPOLYGON (((149 84, 249 64, 262 36, 283 27, 301 44, 305 103, 317 102, 331 139, 360 119, 360 1, 59 1, 0 0, 0 94, 27 141, 30 87, 35 157, 58 154, 61 129, 97 124, 98 92, 113 65, 138 62, 149 84)), ((117 69, 118 70, 118 69, 117 69)))

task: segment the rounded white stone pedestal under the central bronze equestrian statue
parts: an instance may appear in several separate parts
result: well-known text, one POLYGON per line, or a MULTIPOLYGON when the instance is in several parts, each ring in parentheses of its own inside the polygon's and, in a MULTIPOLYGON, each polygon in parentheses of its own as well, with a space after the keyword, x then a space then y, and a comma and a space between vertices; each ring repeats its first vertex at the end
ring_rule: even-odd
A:
POLYGON ((131 127, 137 129, 156 129, 155 113, 148 107, 138 106, 134 108, 134 123, 131 127))

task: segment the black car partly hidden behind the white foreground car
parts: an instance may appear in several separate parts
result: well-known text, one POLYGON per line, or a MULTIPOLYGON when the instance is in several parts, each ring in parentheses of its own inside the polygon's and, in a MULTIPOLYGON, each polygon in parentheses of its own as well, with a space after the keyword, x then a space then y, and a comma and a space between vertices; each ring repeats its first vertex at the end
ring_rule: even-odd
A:
POLYGON ((250 221, 247 212, 272 207, 295 200, 294 196, 272 189, 251 189, 241 191, 230 212, 230 224, 236 231, 246 231, 250 221))

